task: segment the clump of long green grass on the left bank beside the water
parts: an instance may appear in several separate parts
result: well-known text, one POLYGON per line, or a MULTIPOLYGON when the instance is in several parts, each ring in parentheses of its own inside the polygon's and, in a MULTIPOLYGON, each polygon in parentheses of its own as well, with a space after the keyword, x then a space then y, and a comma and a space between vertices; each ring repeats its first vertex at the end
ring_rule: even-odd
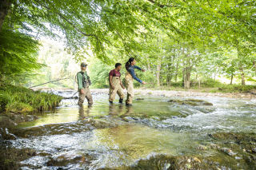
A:
POLYGON ((0 87, 0 112, 32 113, 52 109, 59 105, 62 97, 43 93, 21 86, 5 85, 0 87))

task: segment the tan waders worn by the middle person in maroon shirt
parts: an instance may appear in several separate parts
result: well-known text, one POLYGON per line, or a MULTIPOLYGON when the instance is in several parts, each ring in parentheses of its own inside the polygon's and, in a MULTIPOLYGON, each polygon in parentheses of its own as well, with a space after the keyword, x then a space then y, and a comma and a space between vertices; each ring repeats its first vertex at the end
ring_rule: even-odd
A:
POLYGON ((120 97, 119 103, 122 103, 124 93, 122 91, 122 86, 120 84, 121 83, 120 77, 112 77, 111 83, 114 86, 114 89, 112 89, 112 87, 110 85, 110 98, 109 98, 110 103, 112 103, 114 101, 115 95, 117 93, 118 93, 118 96, 120 97))

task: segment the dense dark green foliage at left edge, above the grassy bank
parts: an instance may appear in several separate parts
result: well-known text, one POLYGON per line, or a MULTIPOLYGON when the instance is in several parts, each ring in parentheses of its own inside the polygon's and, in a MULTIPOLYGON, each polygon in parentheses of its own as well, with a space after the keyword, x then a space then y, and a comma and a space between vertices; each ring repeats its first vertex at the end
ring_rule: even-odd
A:
POLYGON ((22 76, 42 65, 37 62, 38 41, 17 31, 0 32, 0 81, 22 81, 22 76))

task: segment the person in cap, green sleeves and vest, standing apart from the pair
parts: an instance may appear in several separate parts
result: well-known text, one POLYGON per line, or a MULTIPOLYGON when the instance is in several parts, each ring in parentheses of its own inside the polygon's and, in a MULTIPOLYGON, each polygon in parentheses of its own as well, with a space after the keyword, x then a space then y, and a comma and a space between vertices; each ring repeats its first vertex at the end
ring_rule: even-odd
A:
POLYGON ((89 85, 90 77, 86 73, 86 63, 81 63, 81 71, 77 73, 77 81, 78 81, 78 92, 79 92, 79 99, 78 105, 82 106, 85 98, 88 101, 88 105, 93 104, 93 97, 91 96, 89 85))

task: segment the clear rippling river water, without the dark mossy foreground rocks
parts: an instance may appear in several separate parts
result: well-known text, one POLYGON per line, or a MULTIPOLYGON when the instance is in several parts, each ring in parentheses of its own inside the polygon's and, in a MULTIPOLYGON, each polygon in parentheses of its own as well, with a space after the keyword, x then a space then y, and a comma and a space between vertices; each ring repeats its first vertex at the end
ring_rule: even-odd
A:
POLYGON ((254 100, 190 97, 213 105, 182 105, 168 101, 186 98, 149 95, 126 107, 118 100, 110 105, 104 93, 93 97, 91 107, 79 108, 77 101, 66 99, 57 109, 38 114, 37 120, 18 125, 11 146, 36 152, 22 160, 22 169, 127 169, 158 155, 210 157, 219 169, 248 168, 239 153, 230 156, 205 148, 221 145, 211 137, 214 133, 256 132, 254 100))

